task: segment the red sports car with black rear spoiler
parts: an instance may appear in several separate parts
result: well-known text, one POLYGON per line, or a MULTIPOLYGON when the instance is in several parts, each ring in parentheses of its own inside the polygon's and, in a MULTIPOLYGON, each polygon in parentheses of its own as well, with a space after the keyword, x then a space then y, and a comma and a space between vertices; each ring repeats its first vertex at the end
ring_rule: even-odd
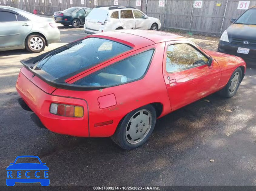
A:
POLYGON ((157 118, 217 91, 234 96, 246 70, 240 57, 148 30, 89 35, 21 63, 19 103, 38 126, 111 137, 127 150, 146 142, 157 118))

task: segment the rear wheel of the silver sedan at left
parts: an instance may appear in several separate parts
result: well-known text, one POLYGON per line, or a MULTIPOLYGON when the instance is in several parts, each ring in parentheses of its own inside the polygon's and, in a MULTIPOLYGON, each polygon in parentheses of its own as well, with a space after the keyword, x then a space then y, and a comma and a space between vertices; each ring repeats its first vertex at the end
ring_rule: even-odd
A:
POLYGON ((32 53, 39 53, 44 50, 46 46, 44 37, 39 34, 29 35, 25 41, 25 48, 32 53))

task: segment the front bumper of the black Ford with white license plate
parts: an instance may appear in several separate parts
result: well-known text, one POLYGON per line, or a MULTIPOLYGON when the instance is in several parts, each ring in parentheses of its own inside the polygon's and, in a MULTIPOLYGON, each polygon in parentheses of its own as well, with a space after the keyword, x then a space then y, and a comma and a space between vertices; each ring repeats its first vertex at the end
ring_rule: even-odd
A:
POLYGON ((218 52, 235 55, 244 59, 246 64, 256 65, 256 47, 248 45, 234 45, 229 42, 219 41, 218 52), (248 54, 237 53, 238 47, 249 48, 248 54))

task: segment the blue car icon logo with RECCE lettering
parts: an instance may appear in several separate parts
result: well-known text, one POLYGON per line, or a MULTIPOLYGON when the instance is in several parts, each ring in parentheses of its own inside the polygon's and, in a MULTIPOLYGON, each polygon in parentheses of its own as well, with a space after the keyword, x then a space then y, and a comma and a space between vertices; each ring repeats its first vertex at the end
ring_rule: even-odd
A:
POLYGON ((40 182, 42 186, 48 186, 50 179, 48 177, 49 168, 46 163, 42 163, 38 156, 18 156, 7 168, 7 186, 14 186, 16 182, 34 183, 40 182), (23 158, 36 158, 38 163, 19 163, 17 160, 23 158), (37 160, 38 159, 38 160, 37 160))

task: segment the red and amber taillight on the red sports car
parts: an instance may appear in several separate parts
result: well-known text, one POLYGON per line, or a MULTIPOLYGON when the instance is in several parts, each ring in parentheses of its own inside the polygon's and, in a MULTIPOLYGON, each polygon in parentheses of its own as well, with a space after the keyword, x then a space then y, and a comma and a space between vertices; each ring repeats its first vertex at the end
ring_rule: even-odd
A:
POLYGON ((50 113, 66 117, 84 116, 84 108, 81 106, 51 103, 50 113))

